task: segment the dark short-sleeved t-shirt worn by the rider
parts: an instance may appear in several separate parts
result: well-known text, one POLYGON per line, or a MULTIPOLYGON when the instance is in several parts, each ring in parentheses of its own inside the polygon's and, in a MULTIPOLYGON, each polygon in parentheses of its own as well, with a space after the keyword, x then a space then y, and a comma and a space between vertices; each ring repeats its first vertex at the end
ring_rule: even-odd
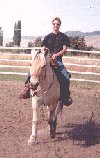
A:
MULTIPOLYGON (((69 37, 62 33, 59 32, 57 34, 50 33, 47 36, 45 36, 42 46, 47 47, 50 50, 51 54, 58 53, 63 49, 63 46, 70 46, 70 39, 69 37)), ((62 57, 58 57, 60 61, 62 61, 62 57)))

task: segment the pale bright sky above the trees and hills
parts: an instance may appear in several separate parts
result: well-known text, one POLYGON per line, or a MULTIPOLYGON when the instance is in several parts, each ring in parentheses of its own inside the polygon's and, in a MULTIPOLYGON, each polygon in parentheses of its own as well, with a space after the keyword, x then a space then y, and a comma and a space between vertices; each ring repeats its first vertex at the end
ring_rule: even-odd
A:
POLYGON ((22 36, 52 32, 51 21, 60 17, 60 31, 100 31, 100 0, 0 0, 0 27, 4 37, 13 37, 21 20, 22 36))

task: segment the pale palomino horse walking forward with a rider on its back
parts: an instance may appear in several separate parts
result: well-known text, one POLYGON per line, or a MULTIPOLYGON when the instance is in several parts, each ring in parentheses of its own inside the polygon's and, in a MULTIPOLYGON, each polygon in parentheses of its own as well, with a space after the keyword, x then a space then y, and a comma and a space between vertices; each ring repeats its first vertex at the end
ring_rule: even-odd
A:
POLYGON ((30 74, 33 120, 32 134, 28 142, 34 144, 37 138, 39 107, 43 104, 48 107, 48 124, 50 125, 51 138, 55 138, 57 115, 61 110, 60 101, 58 101, 60 85, 54 70, 50 66, 50 54, 48 50, 40 50, 32 53, 30 74))

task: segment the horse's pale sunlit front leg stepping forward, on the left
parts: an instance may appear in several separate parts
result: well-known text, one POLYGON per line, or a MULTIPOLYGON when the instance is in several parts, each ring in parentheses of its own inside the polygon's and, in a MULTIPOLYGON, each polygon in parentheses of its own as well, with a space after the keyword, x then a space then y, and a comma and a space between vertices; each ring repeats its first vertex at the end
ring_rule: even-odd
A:
POLYGON ((32 97, 32 110, 33 110, 32 134, 30 135, 30 139, 28 140, 29 145, 35 144, 36 138, 37 138, 37 123, 38 123, 39 105, 38 105, 37 99, 35 97, 32 97))

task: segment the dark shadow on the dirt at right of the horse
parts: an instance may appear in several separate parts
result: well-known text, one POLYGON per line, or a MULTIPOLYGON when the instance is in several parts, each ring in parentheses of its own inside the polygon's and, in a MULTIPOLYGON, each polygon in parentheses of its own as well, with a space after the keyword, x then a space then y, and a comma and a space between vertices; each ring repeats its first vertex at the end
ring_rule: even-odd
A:
MULTIPOLYGON (((90 119, 83 124, 66 124, 63 126, 65 139, 83 142, 84 146, 91 146, 100 143, 100 124, 90 119)), ((58 135, 61 133, 58 133, 58 135)))

